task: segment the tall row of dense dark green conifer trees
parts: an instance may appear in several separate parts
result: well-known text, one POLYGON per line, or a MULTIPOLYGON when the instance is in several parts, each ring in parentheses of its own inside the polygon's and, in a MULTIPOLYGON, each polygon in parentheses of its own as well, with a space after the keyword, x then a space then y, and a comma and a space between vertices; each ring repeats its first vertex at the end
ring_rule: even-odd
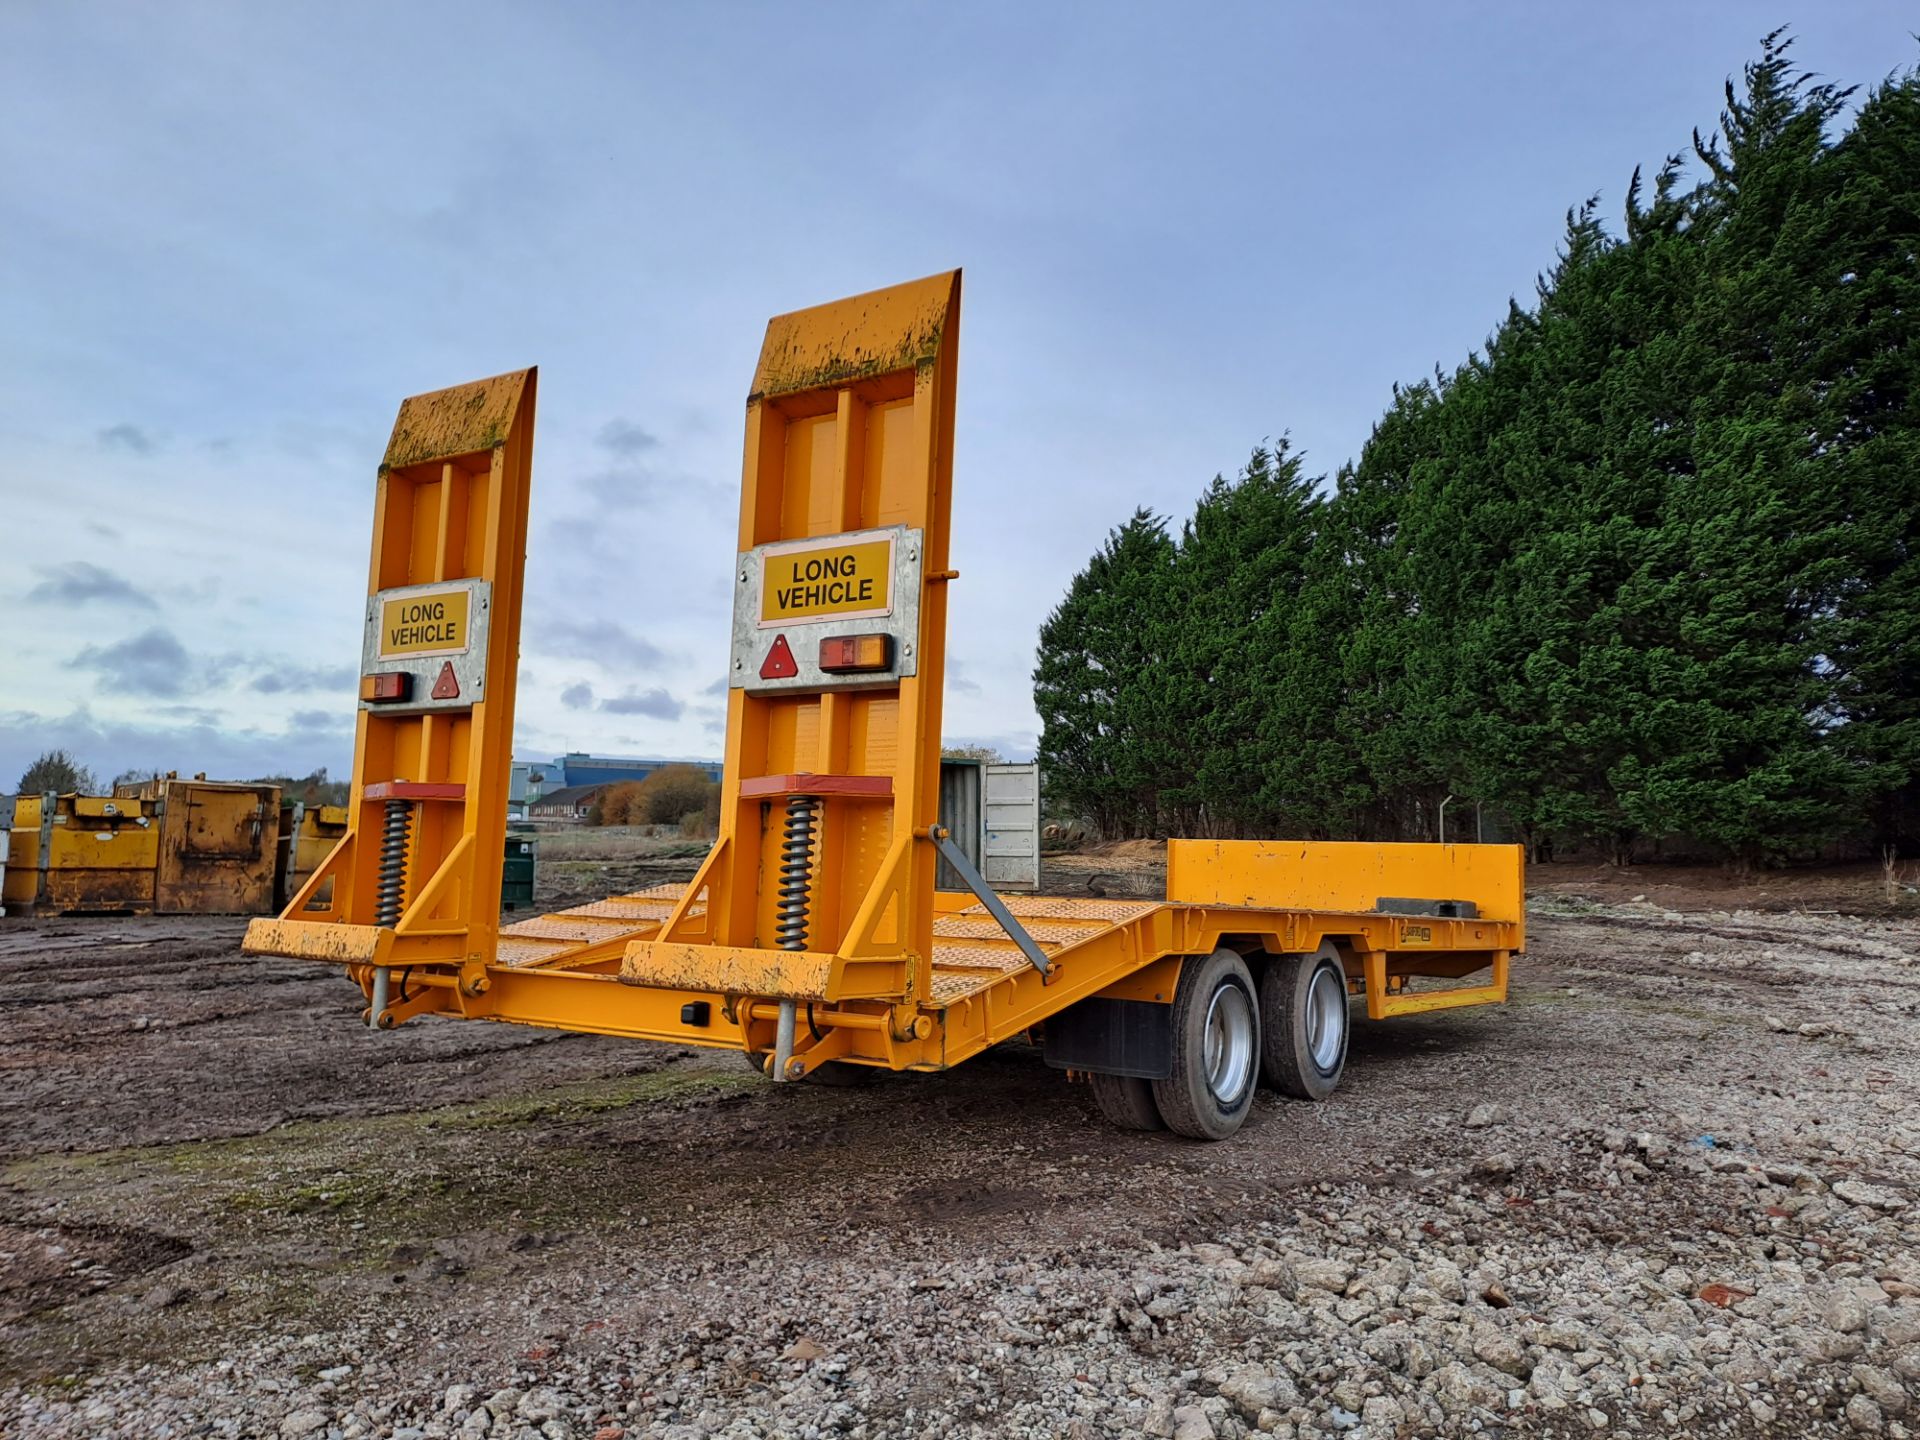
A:
POLYGON ((1920 843, 1920 77, 1766 40, 1718 132, 1574 209, 1532 303, 1329 482, 1286 442, 1139 511, 1041 630, 1100 833, 1613 858, 1920 843))

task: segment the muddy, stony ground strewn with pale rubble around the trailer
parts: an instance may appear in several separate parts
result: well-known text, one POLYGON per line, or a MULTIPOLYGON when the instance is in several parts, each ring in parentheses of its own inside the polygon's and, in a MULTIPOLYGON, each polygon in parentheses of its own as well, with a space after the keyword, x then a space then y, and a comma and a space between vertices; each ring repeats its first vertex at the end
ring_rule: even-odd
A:
POLYGON ((1530 881, 1511 1004, 1357 1023, 1212 1146, 1025 1044, 774 1087, 374 1035, 238 920, 0 922, 0 1434, 1907 1434, 1920 906, 1530 881))

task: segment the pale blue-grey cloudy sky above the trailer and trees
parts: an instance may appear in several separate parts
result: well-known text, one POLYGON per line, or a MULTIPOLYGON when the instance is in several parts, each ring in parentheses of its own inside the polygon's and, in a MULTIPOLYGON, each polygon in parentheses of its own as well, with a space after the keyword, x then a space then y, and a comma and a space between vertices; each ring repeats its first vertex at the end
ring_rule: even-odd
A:
POLYGON ((766 317, 966 269, 947 733, 1135 505, 1354 455, 1791 23, 1910 4, 0 2, 0 789, 351 760, 401 396, 540 365, 522 756, 720 753, 766 317))

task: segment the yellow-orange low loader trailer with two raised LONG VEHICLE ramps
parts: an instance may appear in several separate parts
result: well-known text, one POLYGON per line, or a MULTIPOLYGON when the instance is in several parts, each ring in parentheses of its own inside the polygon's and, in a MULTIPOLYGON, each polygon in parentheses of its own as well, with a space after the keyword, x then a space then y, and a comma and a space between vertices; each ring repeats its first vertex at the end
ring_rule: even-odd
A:
POLYGON ((1039 1037, 1116 1123, 1196 1139, 1233 1135, 1261 1079, 1329 1094, 1350 996, 1373 1020, 1503 1000, 1513 847, 1177 839, 1165 900, 979 879, 937 822, 958 321, 956 271, 768 324, 720 837, 687 885, 505 929, 534 371, 407 399, 374 501, 348 833, 246 948, 346 968, 378 1029, 707 1044, 776 1081, 1039 1037), (941 854, 966 891, 935 889, 941 854))

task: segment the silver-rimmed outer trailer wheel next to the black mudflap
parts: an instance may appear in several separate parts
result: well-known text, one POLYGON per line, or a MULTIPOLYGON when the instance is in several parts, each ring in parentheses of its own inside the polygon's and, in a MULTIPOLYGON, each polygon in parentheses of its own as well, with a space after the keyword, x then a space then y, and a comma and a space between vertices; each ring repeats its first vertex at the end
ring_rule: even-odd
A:
POLYGON ((1169 1020, 1173 1073, 1152 1083, 1160 1117, 1175 1135, 1225 1140, 1260 1079, 1260 1000, 1246 962, 1227 948, 1188 958, 1169 1020))

